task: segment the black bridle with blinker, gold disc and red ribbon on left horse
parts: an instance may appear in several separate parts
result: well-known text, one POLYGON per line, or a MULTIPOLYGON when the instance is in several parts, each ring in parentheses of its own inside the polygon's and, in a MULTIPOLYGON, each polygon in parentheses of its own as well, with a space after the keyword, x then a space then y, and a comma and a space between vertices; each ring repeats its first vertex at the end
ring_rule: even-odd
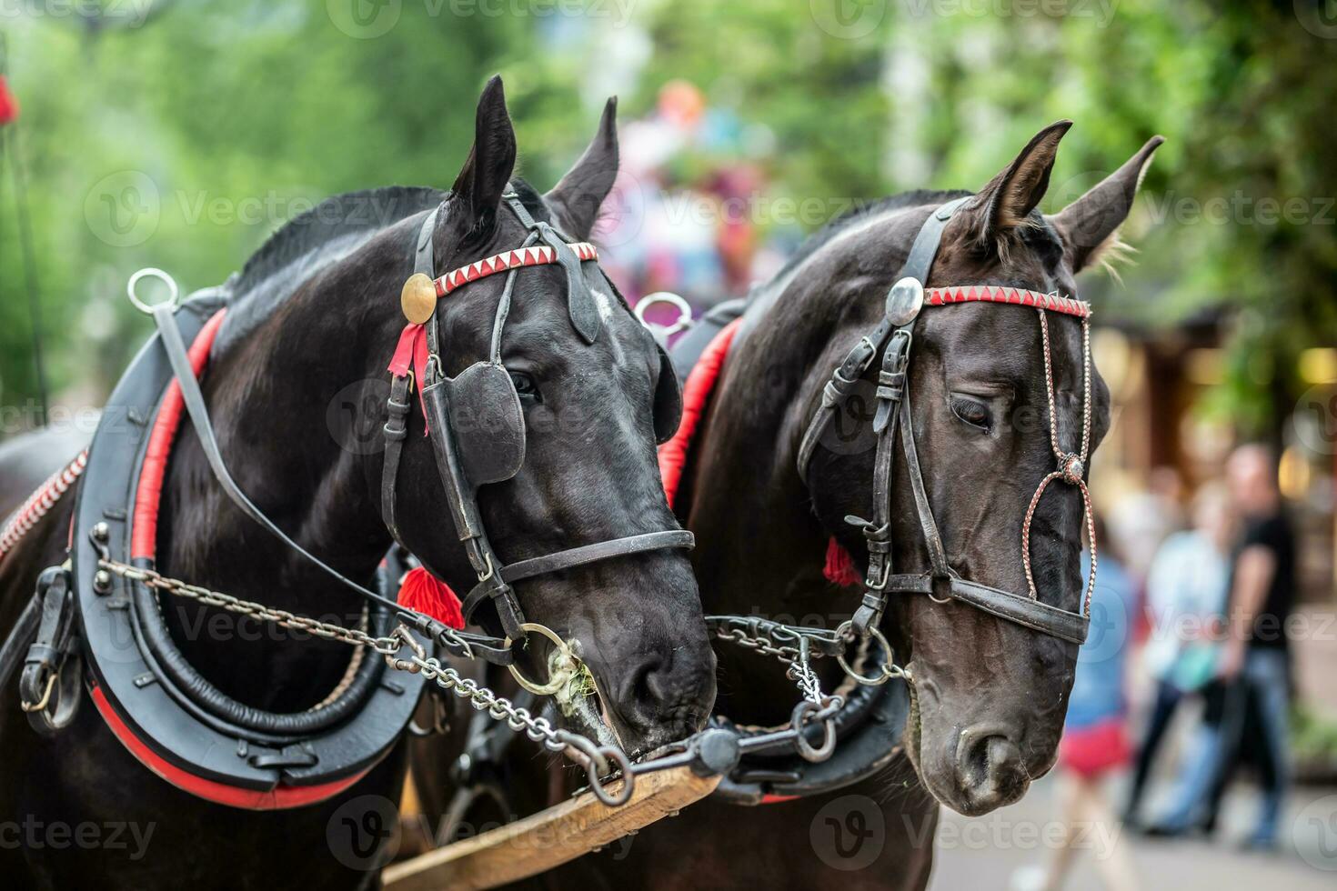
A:
POLYGON ((515 250, 451 270, 440 278, 433 278, 436 270, 432 235, 441 208, 437 207, 428 214, 418 230, 414 275, 405 285, 402 295, 409 326, 401 337, 396 362, 390 365, 393 377, 384 430, 381 510, 385 525, 402 544, 394 516, 396 478, 404 441, 408 437, 409 391, 417 377, 427 429, 451 506, 451 517, 455 521, 456 534, 464 544, 469 565, 477 576, 477 584, 463 602, 464 617, 469 620, 481 602, 491 600, 496 606, 501 631, 511 639, 519 639, 524 635, 525 620, 512 582, 615 557, 664 548, 691 548, 695 537, 685 529, 666 529, 568 548, 509 565, 503 565, 492 549, 479 513, 477 490, 485 484, 503 482, 513 477, 524 458, 524 417, 520 413, 515 386, 501 362, 501 333, 511 311, 516 274, 527 266, 560 264, 567 275, 567 306, 572 326, 586 343, 592 343, 598 338, 602 326, 599 307, 580 271, 582 262, 598 259, 594 246, 584 242, 571 243, 550 223, 536 222, 515 191, 507 191, 503 199, 528 231, 524 243, 515 250), (447 378, 441 370, 440 333, 436 323, 437 298, 499 273, 505 273, 507 278, 493 321, 491 354, 485 362, 475 363, 456 378, 447 378), (416 342, 416 346, 406 347, 406 342, 416 342), (409 355, 413 357, 416 366, 412 371, 406 361, 409 355), (487 411, 493 419, 503 418, 500 425, 489 425, 492 427, 489 435, 493 438, 487 449, 461 448, 463 425, 452 423, 452 417, 459 415, 461 406, 473 411, 487 411))

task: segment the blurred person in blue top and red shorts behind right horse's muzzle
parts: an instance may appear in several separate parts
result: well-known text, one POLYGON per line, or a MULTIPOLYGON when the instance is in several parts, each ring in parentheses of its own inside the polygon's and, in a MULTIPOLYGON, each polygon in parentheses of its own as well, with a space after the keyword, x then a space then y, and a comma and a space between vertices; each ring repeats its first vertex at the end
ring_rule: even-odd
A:
MULTIPOLYGON (((1076 677, 1059 743, 1056 797, 1062 843, 1047 864, 1013 874, 1013 891, 1058 891, 1083 847, 1092 848, 1104 887, 1111 891, 1140 887, 1104 789, 1110 773, 1127 765, 1130 756, 1124 669, 1138 613, 1136 586, 1108 541, 1104 522, 1096 514, 1100 550, 1099 576, 1091 594, 1091 631, 1078 649, 1076 677), (1110 831, 1092 832, 1092 827, 1110 831)), ((1091 553, 1084 550, 1083 577, 1090 570, 1091 553)))

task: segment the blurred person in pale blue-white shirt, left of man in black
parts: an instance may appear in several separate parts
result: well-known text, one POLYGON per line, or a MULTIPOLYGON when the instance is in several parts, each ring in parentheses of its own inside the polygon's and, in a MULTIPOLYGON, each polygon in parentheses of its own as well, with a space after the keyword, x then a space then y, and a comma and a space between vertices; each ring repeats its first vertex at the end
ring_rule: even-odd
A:
POLYGON ((1157 685, 1123 811, 1130 826, 1138 823, 1147 777, 1177 707, 1215 673, 1233 534, 1226 488, 1207 484, 1194 496, 1193 528, 1171 534, 1151 562, 1146 584, 1151 635, 1143 664, 1157 685))

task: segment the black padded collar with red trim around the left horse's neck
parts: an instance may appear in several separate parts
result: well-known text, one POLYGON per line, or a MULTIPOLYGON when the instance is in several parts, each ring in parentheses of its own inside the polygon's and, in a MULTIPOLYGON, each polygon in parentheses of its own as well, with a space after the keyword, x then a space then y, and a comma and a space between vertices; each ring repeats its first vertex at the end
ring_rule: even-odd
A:
MULTIPOLYGON (((217 291, 176 311, 197 371, 225 311, 217 291)), ((295 715, 237 703, 186 661, 156 593, 100 569, 104 557, 151 569, 163 472, 182 417, 172 367, 151 339, 107 401, 88 450, 72 533, 72 609, 91 699, 108 728, 151 771, 201 797, 251 810, 330 797, 380 761, 408 725, 424 680, 386 676, 385 660, 354 657, 337 696, 295 715)), ((394 568, 382 569, 382 584, 394 568)), ((397 577, 397 576, 396 576, 397 577)), ((384 635, 396 616, 365 613, 384 635)))

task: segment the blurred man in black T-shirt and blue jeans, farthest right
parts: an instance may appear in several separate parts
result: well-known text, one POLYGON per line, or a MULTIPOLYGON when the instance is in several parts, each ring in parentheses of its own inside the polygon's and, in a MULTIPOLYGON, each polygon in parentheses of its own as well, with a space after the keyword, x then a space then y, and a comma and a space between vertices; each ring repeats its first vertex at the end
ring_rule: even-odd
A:
POLYGON ((1296 602, 1296 540, 1277 490, 1277 464, 1266 448, 1237 449, 1226 462, 1226 478, 1243 533, 1231 565, 1227 632, 1217 667, 1218 708, 1209 711, 1175 804, 1154 831, 1178 835, 1194 826, 1210 828, 1243 753, 1241 741, 1251 735, 1261 739, 1257 759, 1265 788, 1258 823, 1246 843, 1271 848, 1290 775, 1286 625, 1296 602))

